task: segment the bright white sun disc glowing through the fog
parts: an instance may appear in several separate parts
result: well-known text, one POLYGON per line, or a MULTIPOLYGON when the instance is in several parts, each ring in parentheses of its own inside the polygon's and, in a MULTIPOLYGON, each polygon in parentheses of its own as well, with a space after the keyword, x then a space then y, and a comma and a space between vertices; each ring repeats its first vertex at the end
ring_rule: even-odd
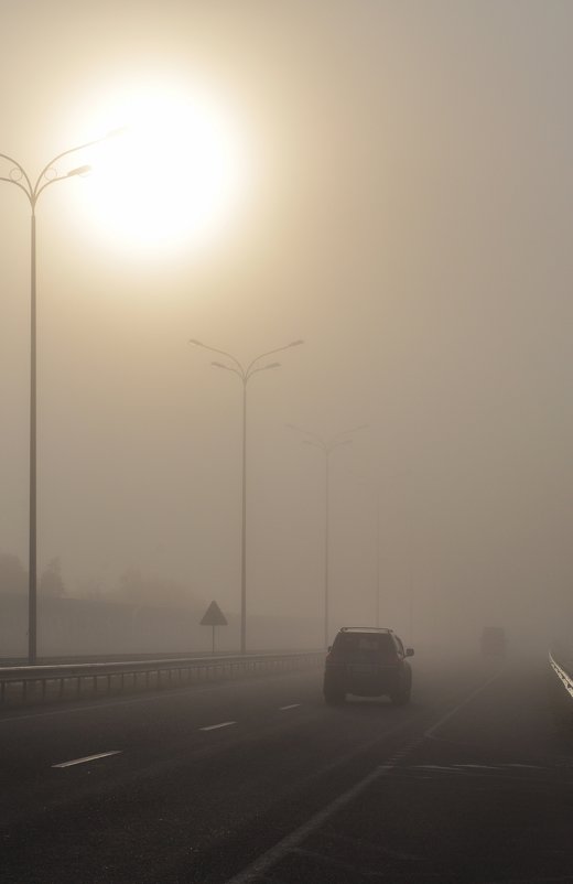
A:
POLYGON ((121 134, 95 151, 86 182, 106 233, 145 249, 220 234, 247 177, 244 139, 230 112, 201 93, 158 88, 127 96, 111 119, 121 121, 121 134))

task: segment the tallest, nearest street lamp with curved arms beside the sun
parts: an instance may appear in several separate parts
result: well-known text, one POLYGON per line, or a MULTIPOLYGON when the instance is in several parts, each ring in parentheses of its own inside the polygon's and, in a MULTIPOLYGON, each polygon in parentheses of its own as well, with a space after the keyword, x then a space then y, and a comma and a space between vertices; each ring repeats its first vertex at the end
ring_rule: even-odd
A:
POLYGON ((29 517, 29 565, 28 565, 28 580, 29 580, 29 600, 28 600, 28 659, 31 666, 36 662, 37 651, 37 494, 36 494, 36 472, 37 472, 37 434, 36 434, 36 413, 37 413, 37 396, 36 396, 36 223, 35 223, 35 208, 40 195, 51 184, 57 181, 66 181, 69 177, 77 175, 85 175, 90 172, 89 165, 78 165, 69 172, 58 174, 55 163, 71 153, 85 150, 95 144, 106 141, 120 134, 123 130, 116 129, 108 132, 104 138, 97 138, 93 141, 86 141, 84 144, 78 144, 76 148, 71 148, 57 157, 54 157, 40 172, 35 182, 28 175, 24 168, 12 157, 6 153, 0 153, 0 160, 10 163, 11 169, 6 175, 0 175, 0 181, 6 181, 8 184, 13 184, 22 193, 25 194, 31 209, 31 225, 30 225, 30 517, 29 517))

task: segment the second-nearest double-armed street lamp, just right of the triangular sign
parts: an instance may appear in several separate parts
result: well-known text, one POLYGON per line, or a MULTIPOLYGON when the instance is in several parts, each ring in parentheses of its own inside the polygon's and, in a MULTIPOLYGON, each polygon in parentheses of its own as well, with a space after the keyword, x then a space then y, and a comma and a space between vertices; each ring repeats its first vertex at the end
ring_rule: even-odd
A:
POLYGON ((219 353, 221 356, 225 356, 227 359, 231 360, 231 365, 225 365, 224 363, 214 362, 212 365, 215 368, 223 368, 226 371, 231 371, 234 375, 237 375, 239 380, 242 384, 242 490, 241 490, 241 504, 242 504, 242 516, 241 516, 241 553, 240 553, 240 653, 246 654, 247 651, 247 385, 251 377, 259 371, 267 371, 270 368, 279 368, 280 363, 268 363, 267 365, 261 365, 257 367, 257 363, 260 359, 263 359, 266 356, 272 356, 274 353, 281 353, 284 349, 290 349, 291 347, 298 347, 303 344, 303 341, 292 341, 290 344, 286 344, 283 347, 277 347, 275 349, 267 351, 267 353, 261 353, 260 356, 257 356, 252 359, 247 367, 241 365, 239 360, 233 356, 230 353, 226 353, 223 349, 217 349, 216 347, 209 347, 207 344, 203 344, 201 341, 195 341, 192 338, 190 344, 194 344, 196 347, 203 347, 204 349, 208 349, 212 353, 219 353))

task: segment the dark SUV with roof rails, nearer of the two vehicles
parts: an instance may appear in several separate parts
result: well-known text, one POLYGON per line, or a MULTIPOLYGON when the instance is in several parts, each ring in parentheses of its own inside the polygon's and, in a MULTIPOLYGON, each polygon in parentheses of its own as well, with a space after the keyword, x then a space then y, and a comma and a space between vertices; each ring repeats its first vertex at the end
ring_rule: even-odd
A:
POLYGON ((326 657, 325 701, 336 705, 344 703, 347 693, 386 694, 394 705, 404 705, 412 690, 412 669, 406 658, 413 653, 392 629, 343 626, 326 657))

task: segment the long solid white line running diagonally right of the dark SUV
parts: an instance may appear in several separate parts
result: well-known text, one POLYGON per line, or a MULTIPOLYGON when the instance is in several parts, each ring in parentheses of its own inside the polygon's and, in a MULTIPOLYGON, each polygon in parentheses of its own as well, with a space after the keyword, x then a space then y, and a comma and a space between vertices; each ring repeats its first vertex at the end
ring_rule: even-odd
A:
POLYGON ((480 691, 487 688, 496 678, 499 678, 501 671, 496 672, 495 676, 489 678, 484 684, 480 684, 476 690, 472 691, 465 700, 462 700, 454 709, 443 715, 434 725, 430 727, 429 731, 425 731, 422 736, 412 740, 411 743, 407 743, 401 750, 399 750, 387 762, 387 764, 379 765, 375 767, 375 769, 367 774, 364 779, 360 779, 354 786, 352 786, 347 791, 338 795, 333 801, 331 801, 326 807, 322 810, 318 810, 313 817, 311 817, 306 822, 300 826, 290 834, 285 836, 281 841, 279 841, 274 847, 270 848, 266 853, 262 853, 258 856, 255 862, 248 865, 242 872, 239 872, 235 877, 229 878, 226 884, 248 884, 249 881, 256 881, 257 878, 263 876, 271 866, 273 866, 279 860, 281 860, 289 851, 293 850, 293 848, 299 847, 299 844, 304 841, 304 839, 310 836, 312 832, 316 831, 327 819, 329 819, 337 810, 345 807, 345 805, 349 804, 354 798, 356 798, 360 793, 363 793, 368 786, 376 780, 380 779, 381 777, 388 776, 396 767, 399 762, 401 762, 407 755, 411 754, 414 748, 417 748, 424 739, 432 734, 437 727, 440 727, 443 722, 447 721, 458 709, 462 709, 466 703, 468 703, 474 697, 476 697, 480 691))

